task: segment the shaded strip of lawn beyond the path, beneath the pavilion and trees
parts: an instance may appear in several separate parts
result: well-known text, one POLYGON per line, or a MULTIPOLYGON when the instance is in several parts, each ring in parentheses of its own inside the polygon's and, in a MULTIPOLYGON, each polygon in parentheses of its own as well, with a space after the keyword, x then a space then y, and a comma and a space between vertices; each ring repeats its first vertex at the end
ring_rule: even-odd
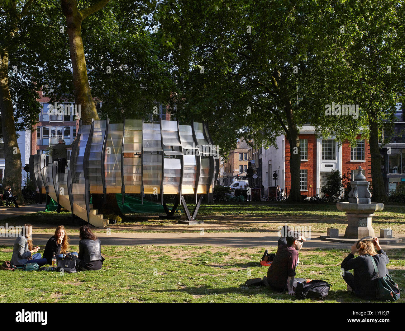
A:
MULTIPOLYGON (((192 207, 190 207, 192 208, 192 207)), ((31 223, 35 232, 53 232, 64 224, 69 233, 77 233, 77 226, 69 226, 68 212, 38 212, 18 218, 6 219, 0 225, 31 223), (38 229, 40 227, 40 229, 38 229)), ((200 225, 179 225, 175 220, 158 219, 158 214, 126 214, 123 223, 109 225, 112 232, 198 232, 200 225)), ((183 216, 184 218, 184 216, 183 216)), ((197 219, 204 221, 206 232, 272 232, 284 223, 294 226, 311 226, 313 232, 326 232, 328 227, 344 233, 347 217, 337 210, 336 204, 281 204, 281 203, 226 203, 201 206, 197 219)), ((373 217, 373 228, 390 228, 395 235, 405 233, 405 206, 385 206, 373 217)), ((105 230, 95 230, 105 231, 105 230)))

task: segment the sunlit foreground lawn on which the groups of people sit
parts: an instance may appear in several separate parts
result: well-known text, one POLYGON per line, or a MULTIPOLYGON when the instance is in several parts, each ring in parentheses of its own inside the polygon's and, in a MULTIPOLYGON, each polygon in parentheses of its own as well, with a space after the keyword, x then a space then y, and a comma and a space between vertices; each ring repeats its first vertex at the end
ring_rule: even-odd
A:
MULTIPOLYGON (((43 253, 44 246, 40 252, 43 253)), ((77 250, 72 246, 72 250, 77 250)), ((0 261, 12 247, 0 246, 0 261)), ((349 250, 301 250, 296 277, 333 284, 324 302, 368 302, 346 292, 340 263, 349 250)), ((405 287, 405 249, 386 251, 388 269, 401 291, 405 287)), ((102 246, 100 271, 58 272, 0 270, 4 302, 303 302, 265 287, 246 288, 249 278, 263 277, 258 261, 263 248, 210 246, 102 246)), ((398 302, 405 302, 404 297, 398 302)))

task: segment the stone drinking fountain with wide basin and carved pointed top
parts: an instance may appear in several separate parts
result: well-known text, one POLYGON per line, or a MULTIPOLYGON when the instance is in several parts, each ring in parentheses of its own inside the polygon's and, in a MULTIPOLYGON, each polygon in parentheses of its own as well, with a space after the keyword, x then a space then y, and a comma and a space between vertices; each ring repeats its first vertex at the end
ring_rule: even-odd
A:
POLYGON ((337 209, 346 212, 349 221, 344 238, 360 239, 366 236, 375 237, 374 229, 371 226, 371 219, 374 212, 384 209, 384 204, 371 202, 369 191, 370 182, 362 173, 363 169, 358 167, 354 181, 351 182, 352 191, 349 193, 349 202, 338 202, 337 209))

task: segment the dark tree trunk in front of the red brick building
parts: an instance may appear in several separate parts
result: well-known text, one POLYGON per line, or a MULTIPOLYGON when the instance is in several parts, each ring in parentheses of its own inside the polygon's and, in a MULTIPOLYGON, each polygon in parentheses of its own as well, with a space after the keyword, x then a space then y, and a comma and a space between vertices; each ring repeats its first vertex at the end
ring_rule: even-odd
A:
POLYGON ((286 134, 287 139, 290 142, 291 188, 290 194, 288 195, 288 201, 301 202, 301 191, 300 191, 301 157, 300 153, 298 153, 300 146, 300 139, 299 139, 299 132, 292 113, 291 101, 286 102, 285 112, 288 124, 288 131, 286 132, 286 134))

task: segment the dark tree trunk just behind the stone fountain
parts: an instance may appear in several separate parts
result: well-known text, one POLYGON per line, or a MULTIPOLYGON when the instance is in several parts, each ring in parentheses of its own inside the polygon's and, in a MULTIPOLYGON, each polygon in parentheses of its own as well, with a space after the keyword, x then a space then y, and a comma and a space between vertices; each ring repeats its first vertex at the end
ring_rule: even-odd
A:
POLYGON ((373 183, 373 202, 387 203, 384 179, 381 172, 381 153, 378 146, 378 123, 370 121, 370 156, 371 156, 371 181, 373 183))

